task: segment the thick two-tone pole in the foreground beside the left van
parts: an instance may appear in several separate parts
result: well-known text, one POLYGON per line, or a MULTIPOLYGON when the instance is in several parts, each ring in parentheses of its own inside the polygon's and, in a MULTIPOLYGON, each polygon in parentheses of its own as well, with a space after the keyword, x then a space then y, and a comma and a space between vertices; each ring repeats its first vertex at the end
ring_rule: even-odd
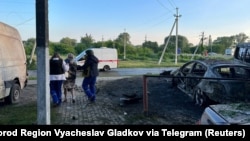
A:
POLYGON ((36 0, 37 124, 50 124, 48 0, 36 0))

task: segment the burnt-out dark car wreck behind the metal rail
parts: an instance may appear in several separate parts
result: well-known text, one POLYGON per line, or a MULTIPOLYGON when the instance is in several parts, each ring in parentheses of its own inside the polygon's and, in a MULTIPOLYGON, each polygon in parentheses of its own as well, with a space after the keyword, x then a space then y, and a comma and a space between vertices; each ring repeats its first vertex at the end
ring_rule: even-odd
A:
POLYGON ((199 106, 250 100, 250 67, 233 60, 192 60, 170 75, 173 86, 199 106))

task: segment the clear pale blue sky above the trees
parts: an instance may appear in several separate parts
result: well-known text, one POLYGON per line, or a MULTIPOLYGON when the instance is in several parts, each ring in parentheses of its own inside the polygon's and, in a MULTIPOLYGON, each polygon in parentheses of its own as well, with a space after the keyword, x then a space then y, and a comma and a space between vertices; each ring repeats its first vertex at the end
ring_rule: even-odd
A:
MULTIPOLYGON (((36 37, 36 0, 0 0, 0 21, 23 40, 36 37)), ((250 0, 48 0, 49 40, 91 35, 115 40, 127 32, 133 45, 164 43, 169 35, 199 44, 205 38, 245 33, 250 37, 250 0)))

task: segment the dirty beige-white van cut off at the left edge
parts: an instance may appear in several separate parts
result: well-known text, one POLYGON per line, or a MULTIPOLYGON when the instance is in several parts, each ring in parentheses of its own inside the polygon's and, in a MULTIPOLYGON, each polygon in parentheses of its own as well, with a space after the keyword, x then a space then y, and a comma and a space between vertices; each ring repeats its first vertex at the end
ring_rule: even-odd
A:
POLYGON ((0 22, 0 100, 17 103, 27 81, 26 54, 20 34, 0 22))

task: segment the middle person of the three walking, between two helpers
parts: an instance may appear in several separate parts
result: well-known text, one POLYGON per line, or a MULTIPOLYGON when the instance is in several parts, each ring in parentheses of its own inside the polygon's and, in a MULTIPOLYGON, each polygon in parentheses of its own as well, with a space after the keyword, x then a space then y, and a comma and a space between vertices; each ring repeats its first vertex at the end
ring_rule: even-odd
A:
POLYGON ((77 73, 77 63, 73 60, 74 55, 72 53, 68 54, 68 58, 65 59, 65 62, 69 64, 69 71, 66 80, 63 82, 64 89, 64 101, 67 102, 67 94, 71 93, 72 102, 75 103, 75 82, 76 82, 76 73, 77 73))

